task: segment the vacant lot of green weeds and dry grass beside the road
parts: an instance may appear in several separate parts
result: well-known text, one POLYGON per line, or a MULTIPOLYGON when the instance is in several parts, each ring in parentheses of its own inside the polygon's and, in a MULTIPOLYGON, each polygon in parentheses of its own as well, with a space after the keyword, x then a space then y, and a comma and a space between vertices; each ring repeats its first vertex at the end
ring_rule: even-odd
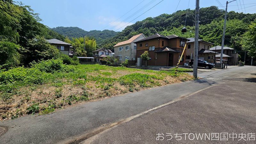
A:
MULTIPOLYGON (((49 63, 47 63, 48 65, 49 63)), ((0 74, 0 120, 56 109, 151 87, 191 80, 174 71, 153 71, 105 65, 13 68, 0 74), (49 70, 50 69, 50 70, 49 70)))

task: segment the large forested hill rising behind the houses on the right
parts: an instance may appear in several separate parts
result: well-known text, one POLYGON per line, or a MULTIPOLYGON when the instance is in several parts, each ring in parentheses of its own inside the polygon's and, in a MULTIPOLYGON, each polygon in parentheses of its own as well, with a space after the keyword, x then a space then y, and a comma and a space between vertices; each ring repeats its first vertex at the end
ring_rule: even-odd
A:
MULTIPOLYGON (((143 33, 145 36, 150 36, 155 33, 162 35, 178 35, 183 37, 194 37, 195 33, 195 10, 182 10, 172 14, 161 14, 157 17, 149 17, 142 21, 137 21, 131 26, 127 26, 122 32, 118 33, 113 38, 109 38, 102 43, 102 47, 107 47, 113 50, 113 46, 120 42, 129 39, 130 37, 143 33), (181 33, 181 29, 185 25, 186 13, 187 21, 186 27, 188 32, 181 33)), ((200 9, 200 25, 199 38, 211 43, 221 44, 221 37, 223 32, 225 11, 218 9, 216 6, 206 7, 200 9)), ((240 50, 239 41, 248 25, 256 18, 256 14, 244 14, 234 11, 227 14, 227 26, 225 45, 240 50)))

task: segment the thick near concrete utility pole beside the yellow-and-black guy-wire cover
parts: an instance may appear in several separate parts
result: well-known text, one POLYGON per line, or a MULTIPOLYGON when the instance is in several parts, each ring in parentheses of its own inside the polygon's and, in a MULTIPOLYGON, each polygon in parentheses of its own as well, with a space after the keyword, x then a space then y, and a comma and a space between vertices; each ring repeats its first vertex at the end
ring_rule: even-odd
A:
POLYGON ((196 0, 196 28, 195 28, 195 47, 194 47, 194 67, 193 76, 197 78, 197 59, 198 59, 198 33, 199 33, 199 0, 196 0))

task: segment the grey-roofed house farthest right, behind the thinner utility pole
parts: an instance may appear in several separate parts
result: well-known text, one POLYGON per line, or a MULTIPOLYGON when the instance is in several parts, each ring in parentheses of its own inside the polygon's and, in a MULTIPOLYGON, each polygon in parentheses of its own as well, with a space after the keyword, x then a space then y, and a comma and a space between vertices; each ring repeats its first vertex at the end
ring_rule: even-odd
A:
MULTIPOLYGON (((211 51, 218 52, 216 54, 216 61, 220 61, 221 46, 217 45, 210 48, 211 51)), ((222 60, 227 61, 228 65, 238 65, 238 53, 236 50, 227 46, 223 47, 222 60)))

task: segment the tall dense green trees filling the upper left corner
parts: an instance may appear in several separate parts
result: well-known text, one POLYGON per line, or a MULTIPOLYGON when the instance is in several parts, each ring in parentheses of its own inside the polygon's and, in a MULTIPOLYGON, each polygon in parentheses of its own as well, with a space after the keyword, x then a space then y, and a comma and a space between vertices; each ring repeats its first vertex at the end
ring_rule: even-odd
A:
POLYGON ((33 60, 46 60, 60 55, 45 39, 64 40, 64 36, 41 24, 38 14, 30 6, 1 0, 0 19, 2 68, 28 65, 33 60))

